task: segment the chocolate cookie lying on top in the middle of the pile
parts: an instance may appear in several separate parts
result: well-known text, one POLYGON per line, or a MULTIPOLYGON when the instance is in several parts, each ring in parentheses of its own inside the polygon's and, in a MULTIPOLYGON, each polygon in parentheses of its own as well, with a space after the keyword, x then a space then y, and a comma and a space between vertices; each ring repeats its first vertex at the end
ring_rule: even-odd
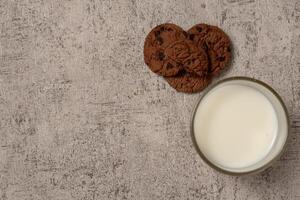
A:
POLYGON ((178 40, 170 44, 165 53, 176 62, 182 63, 183 68, 190 73, 204 76, 208 72, 208 58, 205 51, 190 40, 178 40))

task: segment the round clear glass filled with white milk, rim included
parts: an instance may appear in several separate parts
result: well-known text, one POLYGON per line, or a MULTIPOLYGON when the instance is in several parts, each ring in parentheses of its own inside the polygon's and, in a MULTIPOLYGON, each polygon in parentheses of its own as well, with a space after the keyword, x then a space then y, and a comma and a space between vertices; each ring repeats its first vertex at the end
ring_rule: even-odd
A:
POLYGON ((231 175, 260 172, 282 153, 289 133, 287 109, 267 84, 224 79, 198 101, 191 135, 202 159, 231 175))

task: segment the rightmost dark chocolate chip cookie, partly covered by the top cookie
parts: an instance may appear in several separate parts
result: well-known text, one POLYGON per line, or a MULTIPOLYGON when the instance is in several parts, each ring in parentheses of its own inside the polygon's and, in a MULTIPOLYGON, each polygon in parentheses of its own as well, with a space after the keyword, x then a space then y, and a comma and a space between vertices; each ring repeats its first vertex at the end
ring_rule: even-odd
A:
POLYGON ((222 69, 228 66, 231 59, 231 42, 220 28, 197 24, 187 32, 189 39, 207 52, 212 75, 218 75, 222 69))

